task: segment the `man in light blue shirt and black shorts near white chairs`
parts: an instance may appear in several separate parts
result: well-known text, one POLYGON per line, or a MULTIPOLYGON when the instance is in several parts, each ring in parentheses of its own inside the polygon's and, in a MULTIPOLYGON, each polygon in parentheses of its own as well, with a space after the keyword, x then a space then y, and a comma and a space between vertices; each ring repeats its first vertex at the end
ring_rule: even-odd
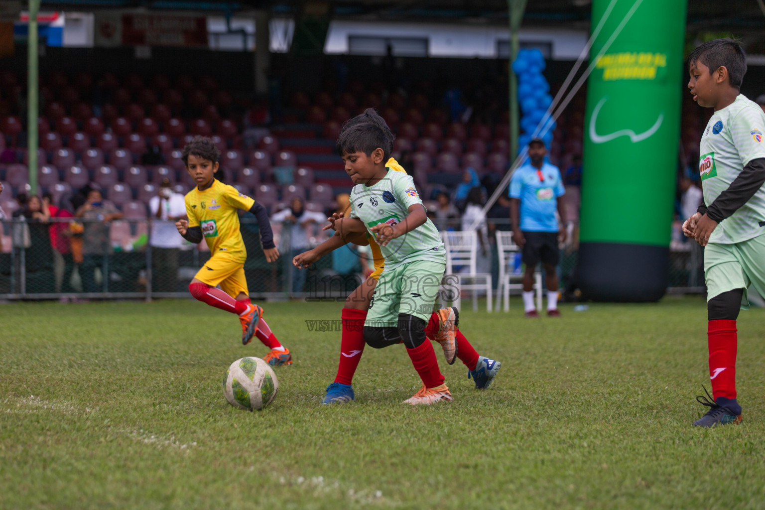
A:
POLYGON ((513 222, 513 240, 523 250, 523 308, 526 317, 539 317, 534 306, 534 271, 542 262, 547 276, 547 314, 559 317, 558 312, 558 236, 565 240, 566 231, 562 201, 565 193, 561 171, 545 163, 547 148, 541 138, 529 142, 530 163, 519 167, 510 180, 510 219, 513 222), (555 212, 558 212, 561 221, 555 212))

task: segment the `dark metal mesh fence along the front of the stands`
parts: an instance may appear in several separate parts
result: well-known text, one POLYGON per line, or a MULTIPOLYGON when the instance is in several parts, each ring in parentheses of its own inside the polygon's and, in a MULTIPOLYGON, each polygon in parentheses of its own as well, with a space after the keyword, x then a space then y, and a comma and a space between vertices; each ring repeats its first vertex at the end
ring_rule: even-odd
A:
MULTIPOLYGON (((161 248, 152 238, 155 219, 98 220, 51 218, 50 223, 24 219, 0 221, 0 299, 145 299, 187 297, 194 274, 210 258, 207 245, 183 240, 177 248, 161 248)), ((363 281, 362 253, 343 247, 327 255, 308 270, 291 265, 297 253, 326 239, 321 226, 309 226, 304 239, 308 246, 291 242, 291 223, 272 224, 281 258, 269 264, 263 255, 258 223, 240 219, 247 249, 244 270, 252 297, 288 299, 339 299, 363 281)), ((459 229, 457 224, 444 228, 459 229)), ((493 229, 509 229, 509 220, 492 219, 484 268, 498 279, 498 257, 493 229)), ((330 231, 331 232, 331 231, 330 231)), ((175 234, 177 236, 177 233, 175 234)), ((302 238, 303 236, 301 236, 302 238)), ((177 239, 177 238, 176 238, 177 239)), ((561 288, 573 274, 576 243, 561 248, 561 288)), ((704 292, 702 249, 695 242, 672 242, 669 258, 669 292, 704 292)), ((511 260, 509 272, 519 271, 511 260)))

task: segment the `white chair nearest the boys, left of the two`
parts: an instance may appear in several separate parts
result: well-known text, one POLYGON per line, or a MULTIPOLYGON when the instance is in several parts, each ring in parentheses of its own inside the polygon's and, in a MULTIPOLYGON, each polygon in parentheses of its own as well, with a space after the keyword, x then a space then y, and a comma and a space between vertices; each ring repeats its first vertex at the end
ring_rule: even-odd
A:
POLYGON ((468 232, 441 232, 446 249, 446 277, 457 286, 456 297, 452 300, 455 307, 461 304, 462 291, 473 294, 473 310, 478 310, 477 291, 486 291, 486 310, 491 311, 491 274, 478 273, 477 252, 478 236, 474 230, 468 232), (454 266, 466 266, 467 272, 454 273, 454 266), (464 283, 472 281, 472 283, 464 283))

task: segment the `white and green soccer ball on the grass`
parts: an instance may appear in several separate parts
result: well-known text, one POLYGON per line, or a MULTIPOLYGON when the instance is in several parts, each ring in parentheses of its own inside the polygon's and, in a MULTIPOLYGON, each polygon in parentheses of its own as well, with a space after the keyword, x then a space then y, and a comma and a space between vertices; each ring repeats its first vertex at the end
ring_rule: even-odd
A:
POLYGON ((237 359, 226 370, 223 395, 235 408, 261 410, 271 404, 279 390, 276 374, 268 363, 248 356, 237 359))

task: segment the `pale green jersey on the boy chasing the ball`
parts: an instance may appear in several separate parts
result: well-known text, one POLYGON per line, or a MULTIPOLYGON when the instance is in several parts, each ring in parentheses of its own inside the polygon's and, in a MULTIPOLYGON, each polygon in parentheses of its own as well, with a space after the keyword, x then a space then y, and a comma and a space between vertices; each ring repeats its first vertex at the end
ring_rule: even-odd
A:
MULTIPOLYGON (((350 191, 350 217, 364 222, 367 231, 379 223, 390 226, 401 223, 409 216, 409 206, 421 204, 412 176, 404 172, 388 170, 377 184, 356 184, 350 191)), ((406 262, 429 260, 446 263, 444 243, 438 229, 430 219, 401 237, 391 239, 387 246, 380 246, 385 257, 386 269, 393 269, 406 262)))

